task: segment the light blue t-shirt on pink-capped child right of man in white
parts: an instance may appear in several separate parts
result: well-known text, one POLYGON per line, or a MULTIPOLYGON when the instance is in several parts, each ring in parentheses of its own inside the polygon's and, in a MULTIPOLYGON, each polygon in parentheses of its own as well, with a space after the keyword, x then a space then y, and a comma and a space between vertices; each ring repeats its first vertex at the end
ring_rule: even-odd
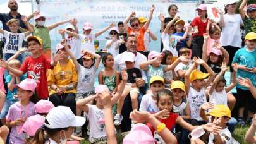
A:
POLYGON ((164 68, 166 66, 165 65, 160 65, 157 68, 154 68, 152 65, 147 66, 147 81, 150 81, 150 78, 152 76, 161 76, 162 78, 164 78, 164 68))

